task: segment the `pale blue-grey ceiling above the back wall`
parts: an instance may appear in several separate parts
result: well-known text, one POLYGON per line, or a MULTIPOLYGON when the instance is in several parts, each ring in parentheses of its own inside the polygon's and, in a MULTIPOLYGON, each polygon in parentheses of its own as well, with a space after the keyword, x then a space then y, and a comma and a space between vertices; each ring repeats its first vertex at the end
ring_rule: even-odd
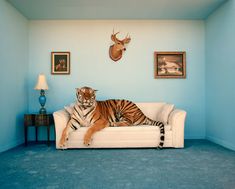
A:
POLYGON ((8 0, 28 19, 205 19, 227 0, 8 0))

